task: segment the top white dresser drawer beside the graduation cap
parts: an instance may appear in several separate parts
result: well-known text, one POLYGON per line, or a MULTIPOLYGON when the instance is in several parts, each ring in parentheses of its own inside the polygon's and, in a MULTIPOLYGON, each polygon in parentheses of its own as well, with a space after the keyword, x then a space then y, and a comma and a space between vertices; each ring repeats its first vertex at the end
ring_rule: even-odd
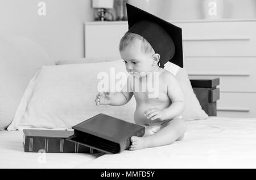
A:
POLYGON ((183 29, 185 56, 256 56, 256 22, 177 23, 176 25, 183 29))

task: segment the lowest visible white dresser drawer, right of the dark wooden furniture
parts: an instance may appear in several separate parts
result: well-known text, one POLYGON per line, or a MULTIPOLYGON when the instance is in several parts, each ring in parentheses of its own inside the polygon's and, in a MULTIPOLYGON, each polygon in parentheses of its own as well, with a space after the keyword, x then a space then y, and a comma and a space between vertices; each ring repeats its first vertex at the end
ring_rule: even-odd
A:
POLYGON ((256 93, 220 93, 217 116, 256 118, 256 93))

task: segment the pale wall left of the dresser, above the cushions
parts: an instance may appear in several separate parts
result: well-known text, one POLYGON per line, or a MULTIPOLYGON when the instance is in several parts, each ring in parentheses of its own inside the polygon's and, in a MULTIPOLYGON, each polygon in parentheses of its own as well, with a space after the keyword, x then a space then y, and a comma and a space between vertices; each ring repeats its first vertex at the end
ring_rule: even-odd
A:
POLYGON ((0 0, 0 32, 30 37, 53 60, 83 57, 83 23, 93 20, 90 0, 43 0, 46 16, 38 15, 39 2, 0 0))

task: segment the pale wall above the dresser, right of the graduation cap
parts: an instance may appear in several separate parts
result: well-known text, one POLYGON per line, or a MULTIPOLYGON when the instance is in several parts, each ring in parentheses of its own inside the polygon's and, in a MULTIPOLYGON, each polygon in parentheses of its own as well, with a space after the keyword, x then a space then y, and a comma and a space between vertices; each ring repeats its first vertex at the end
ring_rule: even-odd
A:
MULTIPOLYGON (((163 19, 187 20, 202 19, 201 2, 204 0, 129 0, 163 19), (150 3, 150 5, 148 5, 150 3)), ((256 18, 255 0, 224 1, 224 18, 256 18)))

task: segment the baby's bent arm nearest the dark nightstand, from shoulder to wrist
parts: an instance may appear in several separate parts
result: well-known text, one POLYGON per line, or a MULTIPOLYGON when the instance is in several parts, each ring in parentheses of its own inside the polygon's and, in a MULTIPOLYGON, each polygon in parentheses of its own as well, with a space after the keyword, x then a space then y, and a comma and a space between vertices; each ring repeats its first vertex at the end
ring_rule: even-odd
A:
POLYGON ((170 73, 167 74, 167 95, 172 104, 163 110, 165 119, 174 119, 185 109, 185 97, 177 79, 170 73))

